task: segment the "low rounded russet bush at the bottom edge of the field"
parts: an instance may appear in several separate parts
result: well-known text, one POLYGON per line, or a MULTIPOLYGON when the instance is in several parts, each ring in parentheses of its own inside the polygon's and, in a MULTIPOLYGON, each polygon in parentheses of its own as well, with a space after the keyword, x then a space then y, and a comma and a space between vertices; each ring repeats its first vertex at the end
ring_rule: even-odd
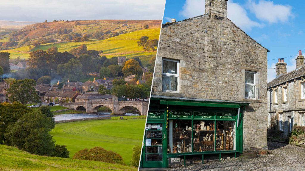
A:
POLYGON ((126 165, 122 156, 113 151, 107 151, 102 147, 94 147, 90 150, 85 148, 75 153, 73 159, 79 160, 92 160, 99 162, 107 162, 113 164, 126 165))

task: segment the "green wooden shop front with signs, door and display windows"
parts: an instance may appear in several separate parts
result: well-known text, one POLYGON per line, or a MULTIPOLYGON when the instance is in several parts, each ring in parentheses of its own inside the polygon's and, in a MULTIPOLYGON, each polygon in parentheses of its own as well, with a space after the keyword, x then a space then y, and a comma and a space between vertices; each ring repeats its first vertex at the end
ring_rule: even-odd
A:
POLYGON ((249 103, 152 97, 141 167, 167 168, 186 158, 242 153, 242 111, 249 103))

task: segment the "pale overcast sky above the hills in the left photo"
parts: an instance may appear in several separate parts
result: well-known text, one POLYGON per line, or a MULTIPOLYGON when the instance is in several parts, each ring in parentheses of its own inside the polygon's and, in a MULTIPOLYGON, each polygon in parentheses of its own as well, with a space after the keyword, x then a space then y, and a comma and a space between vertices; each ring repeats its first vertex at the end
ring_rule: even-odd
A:
POLYGON ((1 1, 0 20, 162 19, 165 0, 9 0, 1 1))

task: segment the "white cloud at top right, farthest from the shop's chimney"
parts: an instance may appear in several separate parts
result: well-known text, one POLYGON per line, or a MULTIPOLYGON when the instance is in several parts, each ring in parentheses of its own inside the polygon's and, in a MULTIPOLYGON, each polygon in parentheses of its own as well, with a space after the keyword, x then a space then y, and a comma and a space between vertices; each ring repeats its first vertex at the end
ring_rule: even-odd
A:
POLYGON ((258 3, 248 0, 248 7, 257 19, 268 23, 285 23, 293 17, 290 5, 274 4, 273 1, 260 0, 258 3))

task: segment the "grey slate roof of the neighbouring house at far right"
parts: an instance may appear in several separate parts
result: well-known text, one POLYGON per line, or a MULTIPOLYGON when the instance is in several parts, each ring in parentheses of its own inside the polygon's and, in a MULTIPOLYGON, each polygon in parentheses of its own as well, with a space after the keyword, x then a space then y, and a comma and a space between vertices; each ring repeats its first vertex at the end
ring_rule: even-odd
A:
POLYGON ((295 70, 288 72, 284 75, 279 76, 278 78, 268 82, 267 87, 273 87, 275 85, 279 85, 284 82, 288 82, 290 80, 296 79, 298 77, 305 75, 305 66, 296 68, 295 70))

